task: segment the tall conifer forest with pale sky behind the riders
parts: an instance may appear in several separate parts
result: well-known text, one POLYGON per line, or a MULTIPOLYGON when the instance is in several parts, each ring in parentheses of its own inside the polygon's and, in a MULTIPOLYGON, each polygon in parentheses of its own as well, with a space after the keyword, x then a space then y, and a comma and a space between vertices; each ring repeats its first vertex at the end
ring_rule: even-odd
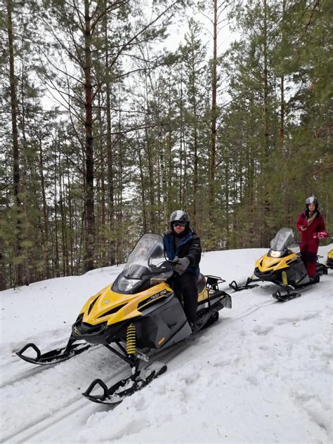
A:
POLYGON ((204 251, 268 247, 314 194, 332 235, 332 23, 330 0, 1 0, 0 289, 124 263, 175 209, 204 251))

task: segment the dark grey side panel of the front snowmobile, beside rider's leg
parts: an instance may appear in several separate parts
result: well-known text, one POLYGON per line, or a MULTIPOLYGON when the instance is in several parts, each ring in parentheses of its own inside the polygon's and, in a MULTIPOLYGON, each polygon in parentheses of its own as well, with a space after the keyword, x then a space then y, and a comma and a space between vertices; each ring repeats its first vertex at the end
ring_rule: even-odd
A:
POLYGON ((138 348, 161 348, 164 344, 174 344, 188 337, 191 333, 181 303, 176 296, 168 298, 167 303, 149 310, 143 318, 135 322, 140 326, 140 336, 137 337, 138 348), (187 328, 183 328, 184 326, 187 328))

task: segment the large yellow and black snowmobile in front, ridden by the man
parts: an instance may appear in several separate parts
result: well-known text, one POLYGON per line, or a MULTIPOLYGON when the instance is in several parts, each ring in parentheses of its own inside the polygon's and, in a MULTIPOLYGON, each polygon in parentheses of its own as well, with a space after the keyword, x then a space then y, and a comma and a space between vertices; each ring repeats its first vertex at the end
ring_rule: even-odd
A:
MULTIPOLYGON (((164 256, 162 236, 146 233, 115 282, 86 301, 65 348, 41 354, 35 344, 27 344, 17 352, 18 356, 30 363, 49 365, 102 344, 129 363, 131 377, 110 388, 95 379, 83 395, 96 403, 118 403, 166 371, 164 363, 149 363, 147 351, 166 348, 193 333, 181 295, 172 289, 173 275, 172 262, 164 256), (23 354, 29 349, 36 354, 34 358, 23 354), (91 393, 100 388, 102 394, 91 393)), ((231 308, 230 295, 218 289, 220 282, 225 281, 199 275, 195 332, 218 320, 221 308, 231 308)))

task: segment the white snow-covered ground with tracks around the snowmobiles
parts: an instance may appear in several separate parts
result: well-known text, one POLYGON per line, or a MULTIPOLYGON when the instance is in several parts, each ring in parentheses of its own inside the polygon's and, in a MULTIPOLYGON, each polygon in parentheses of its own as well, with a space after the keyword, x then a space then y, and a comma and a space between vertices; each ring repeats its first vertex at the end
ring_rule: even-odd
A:
POLYGON ((86 299, 122 267, 1 292, 1 443, 332 443, 333 270, 287 303, 270 296, 271 284, 228 289, 265 253, 203 255, 202 273, 226 279, 233 308, 161 352, 167 372, 114 407, 81 396, 96 377, 128 375, 102 346, 51 366, 14 352, 27 342, 65 345, 86 299))

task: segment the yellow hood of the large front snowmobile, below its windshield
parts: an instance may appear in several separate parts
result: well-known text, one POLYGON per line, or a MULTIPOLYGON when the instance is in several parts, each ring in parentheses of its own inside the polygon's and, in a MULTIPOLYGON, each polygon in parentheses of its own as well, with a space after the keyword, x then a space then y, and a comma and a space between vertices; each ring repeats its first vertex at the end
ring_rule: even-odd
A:
MULTIPOLYGON (((162 292, 162 294, 158 295, 156 299, 159 299, 160 297, 163 297, 164 294, 166 294, 167 292, 172 291, 165 282, 155 285, 154 287, 150 287, 144 292, 136 294, 115 293, 112 292, 111 287, 112 284, 107 285, 107 287, 103 288, 100 292, 96 293, 95 296, 91 296, 91 298, 86 301, 84 307, 80 312, 84 315, 82 319, 83 322, 87 322, 91 325, 98 325, 100 324, 100 322, 107 321, 107 325, 110 325, 122 320, 135 318, 142 314, 140 311, 138 311, 139 303, 145 301, 145 299, 149 299, 155 294, 159 294, 160 292, 162 292), (93 304, 90 313, 88 313, 91 303, 97 297, 97 301, 93 304), (123 307, 117 310, 117 307, 119 306, 123 307), (107 314, 111 310, 115 310, 115 313, 107 314)), ((141 306, 141 309, 142 308, 143 306, 141 306)))

